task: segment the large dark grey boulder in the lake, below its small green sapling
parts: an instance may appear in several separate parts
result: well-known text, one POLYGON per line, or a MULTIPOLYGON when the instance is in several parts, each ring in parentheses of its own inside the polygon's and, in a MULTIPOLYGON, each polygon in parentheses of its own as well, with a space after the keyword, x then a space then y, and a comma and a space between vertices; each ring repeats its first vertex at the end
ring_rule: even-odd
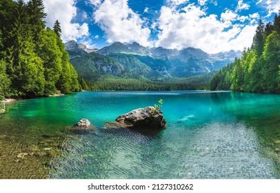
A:
POLYGON ((166 127, 166 119, 161 110, 153 107, 139 108, 121 114, 115 122, 107 122, 103 128, 162 129, 166 127))

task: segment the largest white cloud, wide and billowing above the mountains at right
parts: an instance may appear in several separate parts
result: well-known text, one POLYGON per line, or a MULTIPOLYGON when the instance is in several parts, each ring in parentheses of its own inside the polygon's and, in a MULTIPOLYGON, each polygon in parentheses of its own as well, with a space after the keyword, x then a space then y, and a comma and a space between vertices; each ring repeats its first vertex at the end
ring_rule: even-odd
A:
POLYGON ((217 15, 206 15, 200 7, 189 4, 177 10, 163 6, 159 17, 159 40, 164 48, 201 48, 208 53, 243 50, 250 47, 256 26, 233 25, 238 15, 230 10, 217 15), (229 30, 228 30, 229 29, 229 30))

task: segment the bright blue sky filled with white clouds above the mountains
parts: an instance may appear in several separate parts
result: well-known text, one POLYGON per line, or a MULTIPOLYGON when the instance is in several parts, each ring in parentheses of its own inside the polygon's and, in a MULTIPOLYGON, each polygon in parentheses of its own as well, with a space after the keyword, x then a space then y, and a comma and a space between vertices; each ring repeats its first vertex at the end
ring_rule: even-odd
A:
MULTIPOLYGON (((28 1, 28 0, 26 0, 28 1)), ((250 47, 259 19, 273 21, 279 0, 43 0, 47 26, 88 48, 116 41, 208 53, 250 47)))

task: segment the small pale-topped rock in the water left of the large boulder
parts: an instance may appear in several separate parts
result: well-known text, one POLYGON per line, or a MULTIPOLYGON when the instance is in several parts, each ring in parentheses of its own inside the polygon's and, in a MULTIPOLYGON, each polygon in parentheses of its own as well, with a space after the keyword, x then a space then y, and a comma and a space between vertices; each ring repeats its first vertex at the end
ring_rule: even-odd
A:
POLYGON ((78 123, 68 127, 66 130, 74 134, 86 134, 97 128, 88 121, 88 119, 81 119, 78 123))

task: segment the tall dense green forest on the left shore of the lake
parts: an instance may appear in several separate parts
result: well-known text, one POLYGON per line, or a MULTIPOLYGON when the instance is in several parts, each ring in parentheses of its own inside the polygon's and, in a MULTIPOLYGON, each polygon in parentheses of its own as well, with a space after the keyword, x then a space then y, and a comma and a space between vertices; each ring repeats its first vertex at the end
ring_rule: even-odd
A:
POLYGON ((59 21, 50 29, 45 18, 42 0, 0 1, 0 101, 83 89, 61 40, 59 21))

